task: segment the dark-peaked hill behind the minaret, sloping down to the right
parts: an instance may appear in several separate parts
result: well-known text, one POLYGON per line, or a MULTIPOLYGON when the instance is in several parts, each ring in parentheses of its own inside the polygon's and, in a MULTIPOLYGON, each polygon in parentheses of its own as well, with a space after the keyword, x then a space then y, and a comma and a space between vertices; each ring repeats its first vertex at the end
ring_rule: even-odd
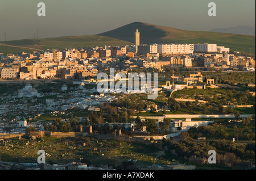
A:
POLYGON ((134 22, 115 30, 98 35, 134 42, 134 32, 139 29, 142 44, 152 43, 216 43, 229 47, 230 50, 255 53, 255 36, 232 33, 187 31, 177 28, 158 26, 142 22, 134 22))

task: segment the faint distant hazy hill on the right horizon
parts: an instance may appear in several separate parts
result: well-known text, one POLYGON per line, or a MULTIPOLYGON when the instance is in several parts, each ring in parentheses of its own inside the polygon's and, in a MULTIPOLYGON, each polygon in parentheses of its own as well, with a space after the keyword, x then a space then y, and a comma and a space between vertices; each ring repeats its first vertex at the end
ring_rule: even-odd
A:
POLYGON ((249 26, 238 26, 238 27, 230 27, 230 28, 215 28, 210 31, 255 36, 255 27, 249 27, 249 26))

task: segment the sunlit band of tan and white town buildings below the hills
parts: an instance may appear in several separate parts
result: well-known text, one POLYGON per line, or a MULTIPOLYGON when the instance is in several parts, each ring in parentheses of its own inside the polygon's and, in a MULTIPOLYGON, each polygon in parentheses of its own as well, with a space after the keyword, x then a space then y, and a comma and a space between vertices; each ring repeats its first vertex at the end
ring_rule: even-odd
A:
POLYGON ((203 47, 211 48, 197 48, 198 51, 195 51, 197 45, 130 45, 8 54, 1 60, 0 77, 25 80, 51 78, 81 80, 94 78, 98 72, 108 71, 110 67, 124 73, 131 69, 165 67, 255 70, 253 57, 236 56, 228 53, 225 48, 217 51, 216 46, 213 46, 215 48, 212 52, 210 44, 203 44, 203 47))

